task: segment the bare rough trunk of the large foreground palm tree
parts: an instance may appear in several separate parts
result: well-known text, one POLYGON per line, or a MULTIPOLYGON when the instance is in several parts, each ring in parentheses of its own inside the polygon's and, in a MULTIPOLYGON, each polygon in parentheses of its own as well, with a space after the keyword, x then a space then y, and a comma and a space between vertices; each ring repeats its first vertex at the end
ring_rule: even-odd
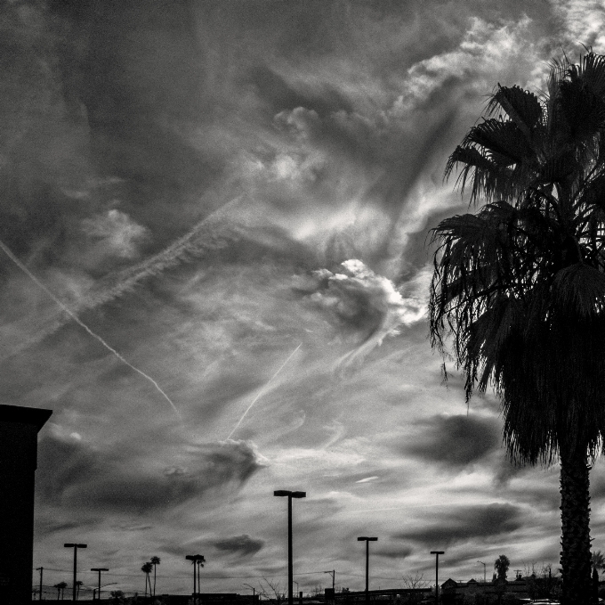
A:
POLYGON ((561 448, 563 605, 591 603, 589 471, 585 454, 564 452, 561 448))

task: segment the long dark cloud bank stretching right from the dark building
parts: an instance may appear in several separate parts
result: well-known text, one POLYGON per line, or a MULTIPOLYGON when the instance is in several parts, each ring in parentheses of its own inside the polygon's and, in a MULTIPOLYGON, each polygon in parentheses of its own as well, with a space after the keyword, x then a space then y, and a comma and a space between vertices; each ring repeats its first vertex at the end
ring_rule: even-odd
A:
POLYGON ((72 437, 47 435, 38 452, 40 500, 89 512, 160 511, 222 486, 241 486, 262 468, 242 441, 190 446, 186 466, 157 471, 137 469, 127 451, 93 450, 72 437))

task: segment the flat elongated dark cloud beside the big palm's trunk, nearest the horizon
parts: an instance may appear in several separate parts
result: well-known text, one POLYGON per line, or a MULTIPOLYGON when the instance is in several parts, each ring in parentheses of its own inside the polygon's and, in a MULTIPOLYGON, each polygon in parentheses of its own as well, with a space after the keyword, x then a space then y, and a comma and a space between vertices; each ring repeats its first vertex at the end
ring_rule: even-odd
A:
POLYGON ((526 513, 512 504, 450 506, 439 512, 439 521, 394 534, 400 540, 432 545, 449 545, 510 534, 523 527, 526 513))

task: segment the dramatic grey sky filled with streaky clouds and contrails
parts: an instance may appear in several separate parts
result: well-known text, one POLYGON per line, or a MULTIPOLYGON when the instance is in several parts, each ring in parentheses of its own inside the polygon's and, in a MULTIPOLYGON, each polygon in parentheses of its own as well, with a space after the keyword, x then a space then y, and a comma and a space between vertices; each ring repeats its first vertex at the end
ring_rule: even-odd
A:
MULTIPOLYGON (((558 567, 558 468, 516 468, 426 318, 448 155, 497 84, 605 53, 588 0, 7 0, 0 401, 39 435, 35 567, 158 593, 558 567), (248 586, 246 586, 248 585, 248 586)), ((593 548, 605 550, 603 462, 593 548)), ((35 577, 36 577, 35 573, 35 577)))

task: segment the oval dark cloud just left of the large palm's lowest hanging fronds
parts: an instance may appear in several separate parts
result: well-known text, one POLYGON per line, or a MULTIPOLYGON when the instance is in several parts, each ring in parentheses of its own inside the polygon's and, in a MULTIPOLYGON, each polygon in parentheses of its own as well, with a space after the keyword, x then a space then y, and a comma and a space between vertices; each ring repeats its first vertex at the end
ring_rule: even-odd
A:
POLYGON ((416 426, 418 430, 403 452, 453 469, 479 462, 502 444, 496 418, 440 415, 416 426))

